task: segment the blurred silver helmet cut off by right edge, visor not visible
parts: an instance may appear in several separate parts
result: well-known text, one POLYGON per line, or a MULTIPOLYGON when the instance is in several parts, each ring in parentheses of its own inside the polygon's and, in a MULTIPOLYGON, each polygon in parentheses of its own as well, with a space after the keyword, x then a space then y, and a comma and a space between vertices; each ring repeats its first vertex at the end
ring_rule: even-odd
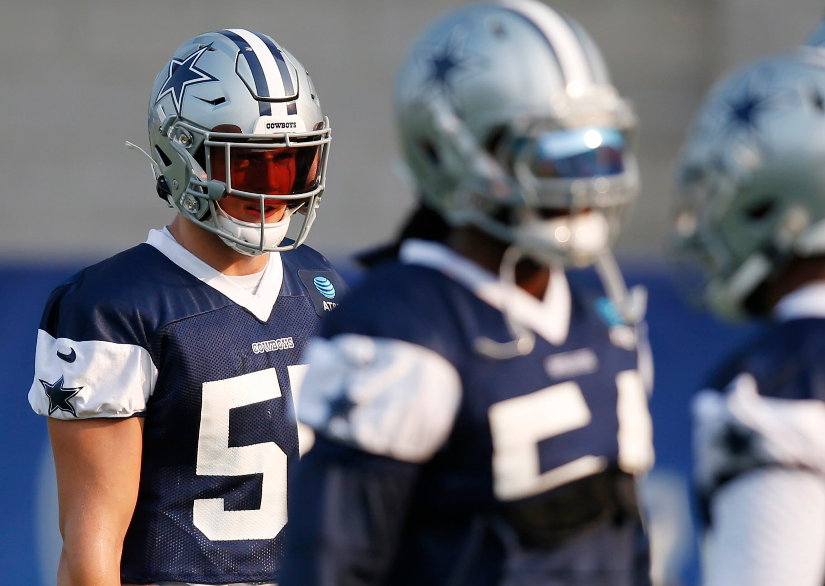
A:
POLYGON ((717 83, 676 164, 672 233, 695 296, 748 314, 758 286, 825 253, 825 53, 761 59, 717 83))

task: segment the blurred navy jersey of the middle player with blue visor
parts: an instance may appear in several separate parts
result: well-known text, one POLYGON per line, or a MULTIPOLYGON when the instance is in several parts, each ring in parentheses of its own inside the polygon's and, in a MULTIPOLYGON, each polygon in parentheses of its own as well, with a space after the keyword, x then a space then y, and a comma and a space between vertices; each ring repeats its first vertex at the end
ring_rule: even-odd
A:
POLYGON ((560 271, 542 301, 437 243, 400 258, 309 347, 299 418, 318 440, 282 584, 646 584, 636 329, 560 271), (479 351, 512 339, 502 309, 535 333, 528 355, 479 351))

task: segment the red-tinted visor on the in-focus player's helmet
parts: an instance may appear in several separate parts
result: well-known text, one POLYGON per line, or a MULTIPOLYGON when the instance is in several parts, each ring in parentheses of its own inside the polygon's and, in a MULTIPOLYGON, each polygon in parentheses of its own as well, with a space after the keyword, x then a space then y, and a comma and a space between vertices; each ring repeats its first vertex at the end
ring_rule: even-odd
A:
MULTIPOLYGON (((226 182, 226 148, 210 146, 212 178, 226 182)), ((321 146, 277 149, 229 148, 233 190, 270 196, 313 191, 320 181, 321 146)))

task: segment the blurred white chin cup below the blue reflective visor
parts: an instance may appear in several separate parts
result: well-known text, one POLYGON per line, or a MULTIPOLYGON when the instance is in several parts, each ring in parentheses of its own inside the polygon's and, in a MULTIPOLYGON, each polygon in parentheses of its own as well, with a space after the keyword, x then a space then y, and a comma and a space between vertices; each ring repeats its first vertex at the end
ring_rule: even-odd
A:
POLYGON ((529 220, 516 228, 514 243, 540 262, 587 266, 610 243, 610 224, 597 211, 529 220))

